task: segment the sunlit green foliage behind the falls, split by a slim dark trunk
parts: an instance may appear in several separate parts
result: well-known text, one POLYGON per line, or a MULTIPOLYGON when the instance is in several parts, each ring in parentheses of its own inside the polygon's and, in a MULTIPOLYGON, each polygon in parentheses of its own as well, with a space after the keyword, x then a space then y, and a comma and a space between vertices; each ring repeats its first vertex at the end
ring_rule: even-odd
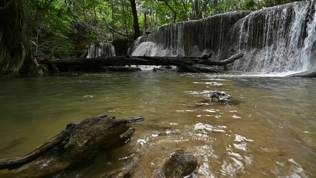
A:
MULTIPOLYGON (((137 0, 140 29, 151 32, 176 22, 235 10, 259 10, 294 0, 137 0), (145 18, 146 15, 146 18, 145 18), (145 26, 146 19, 146 26, 145 26), (146 28, 145 28, 146 27, 146 28)), ((91 43, 133 37, 129 0, 26 0, 34 54, 74 55, 91 43), (120 35, 119 35, 120 34, 120 35), (122 34, 125 34, 122 36, 122 34)))

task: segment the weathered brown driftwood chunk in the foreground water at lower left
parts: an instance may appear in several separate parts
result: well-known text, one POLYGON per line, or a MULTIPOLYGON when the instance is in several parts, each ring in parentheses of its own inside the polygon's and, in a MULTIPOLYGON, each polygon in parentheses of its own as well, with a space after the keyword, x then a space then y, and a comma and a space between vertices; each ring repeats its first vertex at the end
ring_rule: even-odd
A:
POLYGON ((70 123, 60 134, 30 153, 0 160, 0 170, 14 169, 14 175, 32 177, 54 174, 73 163, 94 158, 101 150, 111 151, 125 145, 135 132, 130 123, 143 120, 142 116, 115 119, 103 114, 84 119, 80 123, 70 123), (40 163, 46 167, 40 166, 40 163), (22 167, 24 165, 26 168, 22 167))

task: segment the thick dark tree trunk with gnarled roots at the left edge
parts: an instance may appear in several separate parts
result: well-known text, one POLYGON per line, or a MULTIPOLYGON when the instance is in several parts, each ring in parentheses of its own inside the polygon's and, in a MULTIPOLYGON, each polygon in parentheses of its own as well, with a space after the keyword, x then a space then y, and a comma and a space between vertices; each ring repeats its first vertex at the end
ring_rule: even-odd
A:
POLYGON ((39 73, 26 37, 23 0, 0 0, 0 78, 39 73))

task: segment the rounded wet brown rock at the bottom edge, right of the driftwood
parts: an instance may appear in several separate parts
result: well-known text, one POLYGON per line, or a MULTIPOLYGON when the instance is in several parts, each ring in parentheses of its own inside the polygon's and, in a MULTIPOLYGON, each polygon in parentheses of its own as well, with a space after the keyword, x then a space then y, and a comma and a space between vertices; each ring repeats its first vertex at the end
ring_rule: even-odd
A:
POLYGON ((183 178, 197 169, 197 158, 185 149, 177 150, 159 169, 154 178, 183 178))

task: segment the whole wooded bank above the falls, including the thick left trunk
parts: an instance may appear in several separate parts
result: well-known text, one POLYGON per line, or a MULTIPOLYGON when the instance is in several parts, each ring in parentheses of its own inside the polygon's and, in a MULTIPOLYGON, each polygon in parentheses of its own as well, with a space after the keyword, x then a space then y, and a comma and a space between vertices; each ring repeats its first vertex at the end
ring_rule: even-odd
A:
POLYGON ((79 57, 174 22, 293 0, 0 0, 0 76, 41 74, 34 57, 79 57), (33 54, 33 55, 32 55, 33 54))

